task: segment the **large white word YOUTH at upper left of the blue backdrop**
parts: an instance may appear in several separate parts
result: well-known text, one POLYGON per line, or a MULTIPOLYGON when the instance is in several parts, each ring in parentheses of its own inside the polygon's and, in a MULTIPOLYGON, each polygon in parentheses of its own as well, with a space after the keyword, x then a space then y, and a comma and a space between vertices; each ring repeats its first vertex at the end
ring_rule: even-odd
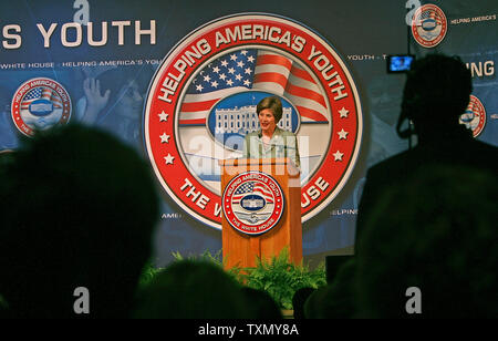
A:
MULTIPOLYGON (((61 44, 64 48, 76 48, 80 46, 83 43, 83 33, 84 30, 86 30, 86 42, 91 46, 103 46, 105 45, 110 40, 110 33, 108 33, 108 22, 103 21, 100 23, 101 25, 101 33, 100 33, 100 40, 95 40, 94 34, 94 28, 96 27, 96 23, 87 22, 86 29, 83 29, 82 24, 80 22, 66 22, 61 25, 61 44), (69 40, 69 32, 74 32, 72 35, 73 40, 69 40)), ((112 32, 116 31, 117 39, 116 42, 118 45, 124 45, 125 43, 125 35, 126 35, 126 28, 132 27, 131 21, 112 21, 111 27, 114 28, 112 32)), ((37 23, 37 28, 40 31, 40 33, 43 37, 43 46, 49 49, 52 43, 52 35, 58 28, 58 23, 53 22, 51 23, 46 29, 42 23, 37 23)), ((135 45, 142 44, 142 38, 143 37, 149 37, 149 43, 152 45, 156 44, 156 21, 151 20, 149 28, 144 29, 142 27, 142 21, 136 20, 134 25, 134 33, 135 33, 135 45)), ((19 28, 20 32, 20 28, 19 28)), ((3 35, 6 35, 6 32, 3 32, 3 35)), ((15 37, 15 35, 14 35, 15 37)), ((14 37, 9 37, 9 39, 14 39, 14 37)), ((20 37, 19 39, 19 45, 20 45, 20 37)))

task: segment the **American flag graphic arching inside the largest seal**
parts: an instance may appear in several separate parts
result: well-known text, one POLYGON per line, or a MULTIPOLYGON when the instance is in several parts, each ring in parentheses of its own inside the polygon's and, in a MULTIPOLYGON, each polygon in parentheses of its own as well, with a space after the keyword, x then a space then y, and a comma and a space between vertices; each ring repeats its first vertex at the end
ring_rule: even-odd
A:
POLYGON ((328 123, 328 105, 311 74, 276 52, 248 49, 225 54, 194 79, 180 107, 180 125, 206 124, 212 106, 241 91, 266 91, 290 100, 301 123, 328 123))

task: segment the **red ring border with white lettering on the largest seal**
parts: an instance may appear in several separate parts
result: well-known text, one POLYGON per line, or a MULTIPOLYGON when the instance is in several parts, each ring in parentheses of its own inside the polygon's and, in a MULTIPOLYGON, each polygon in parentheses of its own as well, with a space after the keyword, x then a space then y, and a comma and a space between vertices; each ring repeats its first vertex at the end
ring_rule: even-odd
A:
MULTIPOLYGON (((326 39, 293 19, 261 12, 230 14, 205 23, 191 31, 172 48, 168 54, 163 59, 162 64, 151 82, 145 104, 144 135, 151 164, 160 185, 179 207, 197 220, 210 227, 221 229, 221 215, 219 214, 222 209, 221 195, 215 194, 206 188, 204 184, 190 173, 190 169, 184 163, 181 146, 175 135, 177 133, 176 120, 178 118, 176 115, 178 107, 183 103, 184 89, 197 69, 218 53, 246 45, 261 46, 261 49, 277 49, 294 55, 294 58, 300 59, 301 62, 311 69, 312 73, 318 79, 318 82, 325 91, 325 101, 328 101, 329 104, 332 130, 329 136, 330 142, 328 151, 322 157, 321 164, 301 186, 301 194, 303 197, 313 193, 313 190, 318 190, 317 187, 321 187, 322 190, 318 198, 311 198, 311 204, 309 203, 309 205, 302 206, 302 221, 307 221, 324 209, 332 199, 341 193, 351 177, 360 154, 363 117, 360 94, 353 76, 346 68, 344 59, 340 56, 336 49, 333 48, 326 39), (201 40, 206 40, 210 43, 210 46, 214 48, 215 34, 217 31, 222 31, 226 28, 234 28, 237 25, 242 27, 245 24, 273 24, 279 27, 282 32, 289 30, 292 34, 301 34, 302 38, 307 40, 307 44, 301 54, 295 54, 290 48, 279 45, 277 42, 258 41, 258 39, 232 41, 226 46, 211 49, 210 52, 204 55, 201 60, 197 61, 194 66, 188 68, 186 74, 179 79, 178 72, 175 72, 174 65, 185 55, 190 46, 196 45, 196 43, 199 43, 201 40), (338 76, 341 78, 344 86, 343 92, 349 94, 346 97, 335 100, 334 96, 336 94, 330 89, 330 80, 323 79, 323 75, 318 70, 313 69, 315 68, 313 61, 308 61, 312 46, 320 50, 322 55, 330 60, 331 68, 333 66, 333 69, 329 69, 328 71, 330 73, 334 71, 338 76), (178 82, 174 82, 174 78, 178 78, 178 82), (162 94, 160 90, 163 85, 174 89, 174 93, 168 95, 168 99, 170 99, 169 103, 158 99, 162 94), (165 115, 164 120, 159 118, 162 114, 165 115), (349 132, 346 140, 342 140, 338 135, 342 128, 349 132), (162 143, 159 140, 159 135, 162 134, 174 137, 172 138, 174 141, 162 143), (166 163, 165 158, 167 158, 166 163), (196 192, 204 190, 201 196, 203 207, 193 203, 190 198, 187 198, 185 192, 181 193, 180 188, 187 179, 191 184, 190 188, 195 187, 196 192)), ((304 200, 305 199, 307 198, 304 198, 304 200)))

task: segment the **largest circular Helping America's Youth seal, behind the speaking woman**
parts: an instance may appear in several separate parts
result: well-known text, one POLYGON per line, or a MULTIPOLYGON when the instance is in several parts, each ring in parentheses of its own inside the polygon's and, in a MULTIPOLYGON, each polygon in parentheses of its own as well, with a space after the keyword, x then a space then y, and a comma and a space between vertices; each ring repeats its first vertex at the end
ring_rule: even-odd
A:
POLYGON ((281 128, 298 136, 302 220, 326 207, 347 182, 359 154, 362 113, 356 86, 335 49, 303 24, 278 16, 220 18, 166 55, 145 108, 144 135, 155 174, 198 220, 221 228, 218 162, 242 157, 243 136, 259 130, 256 105, 269 95, 282 100, 281 128))

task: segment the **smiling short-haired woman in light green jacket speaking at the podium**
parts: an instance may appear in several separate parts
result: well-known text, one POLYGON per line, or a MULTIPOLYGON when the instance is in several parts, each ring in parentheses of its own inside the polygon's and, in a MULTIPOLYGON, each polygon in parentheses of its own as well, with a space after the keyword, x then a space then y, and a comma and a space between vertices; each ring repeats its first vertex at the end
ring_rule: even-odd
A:
POLYGON ((277 126, 282 118, 282 102, 278 96, 262 99, 256 106, 261 128, 246 135, 243 157, 289 157, 300 167, 298 138, 292 132, 277 126))

